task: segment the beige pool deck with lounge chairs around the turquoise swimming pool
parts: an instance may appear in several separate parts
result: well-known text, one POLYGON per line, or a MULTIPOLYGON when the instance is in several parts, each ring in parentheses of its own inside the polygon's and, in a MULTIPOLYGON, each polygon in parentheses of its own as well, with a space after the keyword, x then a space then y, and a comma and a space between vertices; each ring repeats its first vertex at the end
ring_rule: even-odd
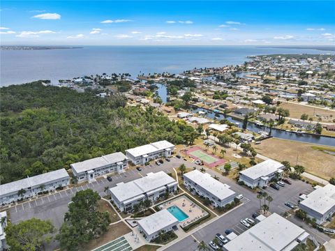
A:
POLYGON ((184 195, 165 202, 164 204, 160 205, 160 208, 170 208, 171 206, 177 206, 181 211, 188 215, 186 220, 179 222, 179 226, 181 227, 186 227, 192 222, 195 222, 196 220, 199 220, 208 214, 207 211, 204 211, 202 208, 200 208, 200 206, 195 204, 193 201, 191 201, 191 199, 188 199, 188 197, 184 195))

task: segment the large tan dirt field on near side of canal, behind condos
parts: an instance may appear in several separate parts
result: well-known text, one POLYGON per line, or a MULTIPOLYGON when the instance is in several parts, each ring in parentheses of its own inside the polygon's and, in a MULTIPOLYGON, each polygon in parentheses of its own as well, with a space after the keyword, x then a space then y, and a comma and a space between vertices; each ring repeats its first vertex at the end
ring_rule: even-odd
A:
POLYGON ((298 164, 304 166, 306 172, 329 180, 335 174, 335 155, 313 146, 317 145, 272 138, 254 147, 262 155, 278 161, 288 160, 291 165, 296 165, 298 157, 298 164))

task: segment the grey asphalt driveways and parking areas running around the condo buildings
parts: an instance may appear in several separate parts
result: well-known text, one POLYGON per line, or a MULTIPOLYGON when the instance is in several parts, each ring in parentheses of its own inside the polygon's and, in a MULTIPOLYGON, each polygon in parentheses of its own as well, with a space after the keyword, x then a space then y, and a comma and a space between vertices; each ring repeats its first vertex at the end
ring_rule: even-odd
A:
MULTIPOLYGON (((75 195, 75 192, 79 190, 85 190, 91 188, 99 193, 101 196, 105 196, 105 187, 112 188, 120 182, 133 181, 136 178, 141 178, 149 172, 159 172, 163 171, 166 173, 174 172, 173 167, 177 168, 181 164, 185 164, 186 167, 197 167, 191 162, 185 161, 183 159, 171 158, 170 162, 164 161, 163 165, 151 164, 149 166, 142 167, 142 171, 137 171, 135 168, 130 168, 123 174, 112 175, 112 181, 107 181, 106 178, 100 178, 94 183, 84 183, 78 185, 75 188, 70 188, 63 190, 61 192, 55 192, 51 195, 47 195, 42 198, 27 201, 24 204, 13 206, 9 209, 10 220, 13 223, 20 222, 21 220, 28 220, 30 218, 40 218, 41 220, 52 220, 54 226, 59 229, 61 224, 64 222, 64 215, 68 210, 68 202, 75 195)), ((218 218, 218 220, 212 222, 209 225, 202 227, 202 229, 196 231, 192 236, 188 236, 178 243, 171 245, 166 250, 196 250, 198 243, 195 241, 209 241, 213 240, 216 233, 224 234, 225 229, 233 229, 236 234, 241 234, 246 231, 246 227, 241 225, 239 221, 244 218, 251 218, 253 212, 257 211, 260 207, 259 199, 256 198, 257 194, 251 192, 250 190, 238 185, 230 178, 226 178, 221 174, 218 174, 214 170, 207 169, 207 172, 212 176, 216 175, 220 178, 220 181, 230 185, 231 189, 237 192, 237 194, 244 195, 244 204, 239 208, 230 211, 227 215, 218 218)), ((285 185, 285 188, 280 190, 274 190, 273 188, 267 188, 266 192, 273 197, 273 201, 270 204, 270 211, 278 214, 289 211, 290 208, 284 205, 285 201, 290 201, 293 204, 297 204, 297 199, 300 192, 311 192, 313 188, 301 181, 292 181, 292 185, 285 185)), ((320 243, 325 243, 329 241, 329 237, 322 234, 315 229, 304 225, 304 222, 291 217, 290 220, 300 227, 304 227, 306 231, 315 236, 316 240, 320 243)), ((57 243, 52 243, 52 248, 56 248, 57 243)))

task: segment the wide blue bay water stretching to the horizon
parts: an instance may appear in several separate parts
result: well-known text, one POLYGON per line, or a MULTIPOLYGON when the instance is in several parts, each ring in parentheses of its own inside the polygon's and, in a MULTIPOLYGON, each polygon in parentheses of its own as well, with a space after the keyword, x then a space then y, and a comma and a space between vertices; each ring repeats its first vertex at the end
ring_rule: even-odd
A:
POLYGON ((326 54, 334 52, 256 46, 84 46, 62 50, 2 50, 1 86, 38 79, 82 77, 102 73, 181 73, 244 63, 260 54, 326 54))

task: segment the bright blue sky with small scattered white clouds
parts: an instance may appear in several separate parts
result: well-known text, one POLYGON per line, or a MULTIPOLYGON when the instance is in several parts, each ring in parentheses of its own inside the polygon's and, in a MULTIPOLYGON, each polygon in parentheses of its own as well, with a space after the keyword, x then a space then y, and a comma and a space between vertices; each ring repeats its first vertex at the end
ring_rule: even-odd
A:
POLYGON ((1 1, 1 45, 335 45, 335 1, 1 1))

